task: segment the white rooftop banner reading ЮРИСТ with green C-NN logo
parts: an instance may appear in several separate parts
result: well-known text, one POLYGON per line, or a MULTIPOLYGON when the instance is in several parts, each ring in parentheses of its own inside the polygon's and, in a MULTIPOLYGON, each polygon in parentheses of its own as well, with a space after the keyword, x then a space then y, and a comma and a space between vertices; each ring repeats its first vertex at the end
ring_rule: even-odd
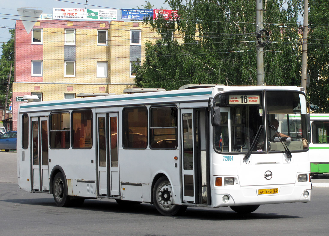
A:
POLYGON ((116 20, 117 10, 53 8, 53 18, 62 20, 116 20))

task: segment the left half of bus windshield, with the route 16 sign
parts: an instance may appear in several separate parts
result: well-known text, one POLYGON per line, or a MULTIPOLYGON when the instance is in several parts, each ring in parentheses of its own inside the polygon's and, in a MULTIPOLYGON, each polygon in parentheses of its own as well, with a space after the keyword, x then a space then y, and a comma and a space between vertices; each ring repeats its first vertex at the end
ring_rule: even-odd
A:
MULTIPOLYGON (((220 126, 214 128, 214 147, 219 152, 247 152, 260 126, 263 126, 263 93, 229 92, 215 97, 220 107, 220 126)), ((264 152, 265 129, 252 151, 264 152)))

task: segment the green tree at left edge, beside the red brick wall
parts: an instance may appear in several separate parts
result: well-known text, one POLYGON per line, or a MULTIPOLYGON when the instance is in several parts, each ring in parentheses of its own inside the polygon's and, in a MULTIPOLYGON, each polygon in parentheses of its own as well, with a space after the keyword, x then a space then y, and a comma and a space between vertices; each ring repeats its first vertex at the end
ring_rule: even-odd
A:
MULTIPOLYGON (((14 60, 15 60, 15 49, 14 49, 14 40, 15 40, 15 30, 10 29, 9 33, 11 34, 10 40, 7 43, 3 43, 2 55, 0 58, 0 79, 2 80, 0 84, 0 103, 5 104, 6 99, 6 90, 8 85, 8 74, 10 72, 10 64, 13 63, 12 75, 11 75, 11 84, 14 80, 14 60)), ((10 94, 9 94, 10 95, 10 94)), ((11 97, 11 95, 9 96, 11 97)))

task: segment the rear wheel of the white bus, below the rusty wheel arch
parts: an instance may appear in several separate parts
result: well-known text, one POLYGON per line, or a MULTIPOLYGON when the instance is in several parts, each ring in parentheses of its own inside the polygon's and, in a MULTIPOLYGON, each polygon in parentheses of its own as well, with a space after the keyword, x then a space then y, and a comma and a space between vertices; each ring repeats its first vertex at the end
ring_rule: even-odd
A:
POLYGON ((69 206, 71 203, 70 197, 66 195, 65 179, 61 172, 55 175, 53 181, 53 196, 56 205, 59 207, 69 206))

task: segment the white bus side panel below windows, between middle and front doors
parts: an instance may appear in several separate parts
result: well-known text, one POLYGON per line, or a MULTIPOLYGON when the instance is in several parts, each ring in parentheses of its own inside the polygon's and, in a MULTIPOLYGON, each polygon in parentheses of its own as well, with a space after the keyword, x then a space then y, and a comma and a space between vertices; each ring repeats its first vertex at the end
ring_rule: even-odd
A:
MULTIPOLYGON (((151 185, 157 174, 164 174, 172 186, 180 186, 180 164, 179 160, 174 159, 174 157, 179 157, 178 148, 176 150, 133 150, 123 149, 121 146, 119 156, 120 183, 124 200, 150 202, 151 185)), ((173 193, 173 197, 175 202, 180 202, 179 188, 177 190, 173 193)))

